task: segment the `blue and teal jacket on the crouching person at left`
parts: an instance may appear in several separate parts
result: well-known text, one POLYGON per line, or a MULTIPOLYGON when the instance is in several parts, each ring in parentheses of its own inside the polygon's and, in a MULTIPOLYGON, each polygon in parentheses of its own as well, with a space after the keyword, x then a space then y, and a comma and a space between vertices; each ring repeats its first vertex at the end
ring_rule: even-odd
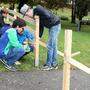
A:
POLYGON ((7 55, 11 48, 23 48, 18 41, 16 29, 8 29, 0 38, 0 57, 7 55))

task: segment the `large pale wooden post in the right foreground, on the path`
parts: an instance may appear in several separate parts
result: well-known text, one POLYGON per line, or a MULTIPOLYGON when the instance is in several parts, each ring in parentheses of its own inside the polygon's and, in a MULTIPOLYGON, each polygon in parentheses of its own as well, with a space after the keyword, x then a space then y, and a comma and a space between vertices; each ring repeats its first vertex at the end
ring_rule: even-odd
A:
POLYGON ((63 89, 70 90, 70 64, 71 58, 72 30, 65 30, 65 47, 64 47, 64 68, 63 68, 63 89))

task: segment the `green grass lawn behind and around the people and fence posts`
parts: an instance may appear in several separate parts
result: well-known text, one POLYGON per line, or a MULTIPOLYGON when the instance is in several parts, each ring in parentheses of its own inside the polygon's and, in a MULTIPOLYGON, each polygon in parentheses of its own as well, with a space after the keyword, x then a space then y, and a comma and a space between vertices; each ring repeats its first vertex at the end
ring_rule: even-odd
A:
MULTIPOLYGON (((66 29, 71 29, 73 31, 73 38, 72 38, 72 53, 80 51, 81 53, 74 58, 85 64, 86 66, 90 67, 90 26, 89 25, 82 25, 81 31, 77 31, 77 26, 75 24, 72 24, 70 22, 70 16, 71 16, 71 11, 70 9, 63 9, 58 11, 57 13, 60 16, 67 16, 69 20, 62 20, 61 25, 62 25, 62 30, 59 34, 58 37, 58 50, 64 51, 64 31, 66 29), (68 13, 69 12, 69 13, 68 13)), ((48 39, 48 30, 45 29, 45 32, 43 34, 42 40, 47 42, 48 39)), ((45 62, 46 62, 46 57, 47 57, 47 50, 40 46, 40 63, 39 66, 41 67, 45 62)), ((30 53, 26 55, 24 58, 20 60, 22 63, 20 66, 17 66, 21 71, 30 71, 35 69, 34 67, 34 53, 30 53)), ((62 68, 63 65, 63 58, 61 56, 58 56, 58 63, 60 69, 62 68)), ((6 69, 3 67, 3 64, 0 63, 0 71, 6 71, 6 69)))

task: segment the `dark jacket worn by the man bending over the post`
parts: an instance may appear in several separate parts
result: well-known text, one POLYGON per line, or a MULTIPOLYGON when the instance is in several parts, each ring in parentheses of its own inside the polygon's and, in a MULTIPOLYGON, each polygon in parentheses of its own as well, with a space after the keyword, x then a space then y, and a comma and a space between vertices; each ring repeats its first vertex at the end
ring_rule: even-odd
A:
POLYGON ((58 16, 40 5, 33 9, 33 14, 38 15, 40 18, 39 37, 42 36, 44 27, 50 29, 52 26, 60 24, 60 18, 58 16))

